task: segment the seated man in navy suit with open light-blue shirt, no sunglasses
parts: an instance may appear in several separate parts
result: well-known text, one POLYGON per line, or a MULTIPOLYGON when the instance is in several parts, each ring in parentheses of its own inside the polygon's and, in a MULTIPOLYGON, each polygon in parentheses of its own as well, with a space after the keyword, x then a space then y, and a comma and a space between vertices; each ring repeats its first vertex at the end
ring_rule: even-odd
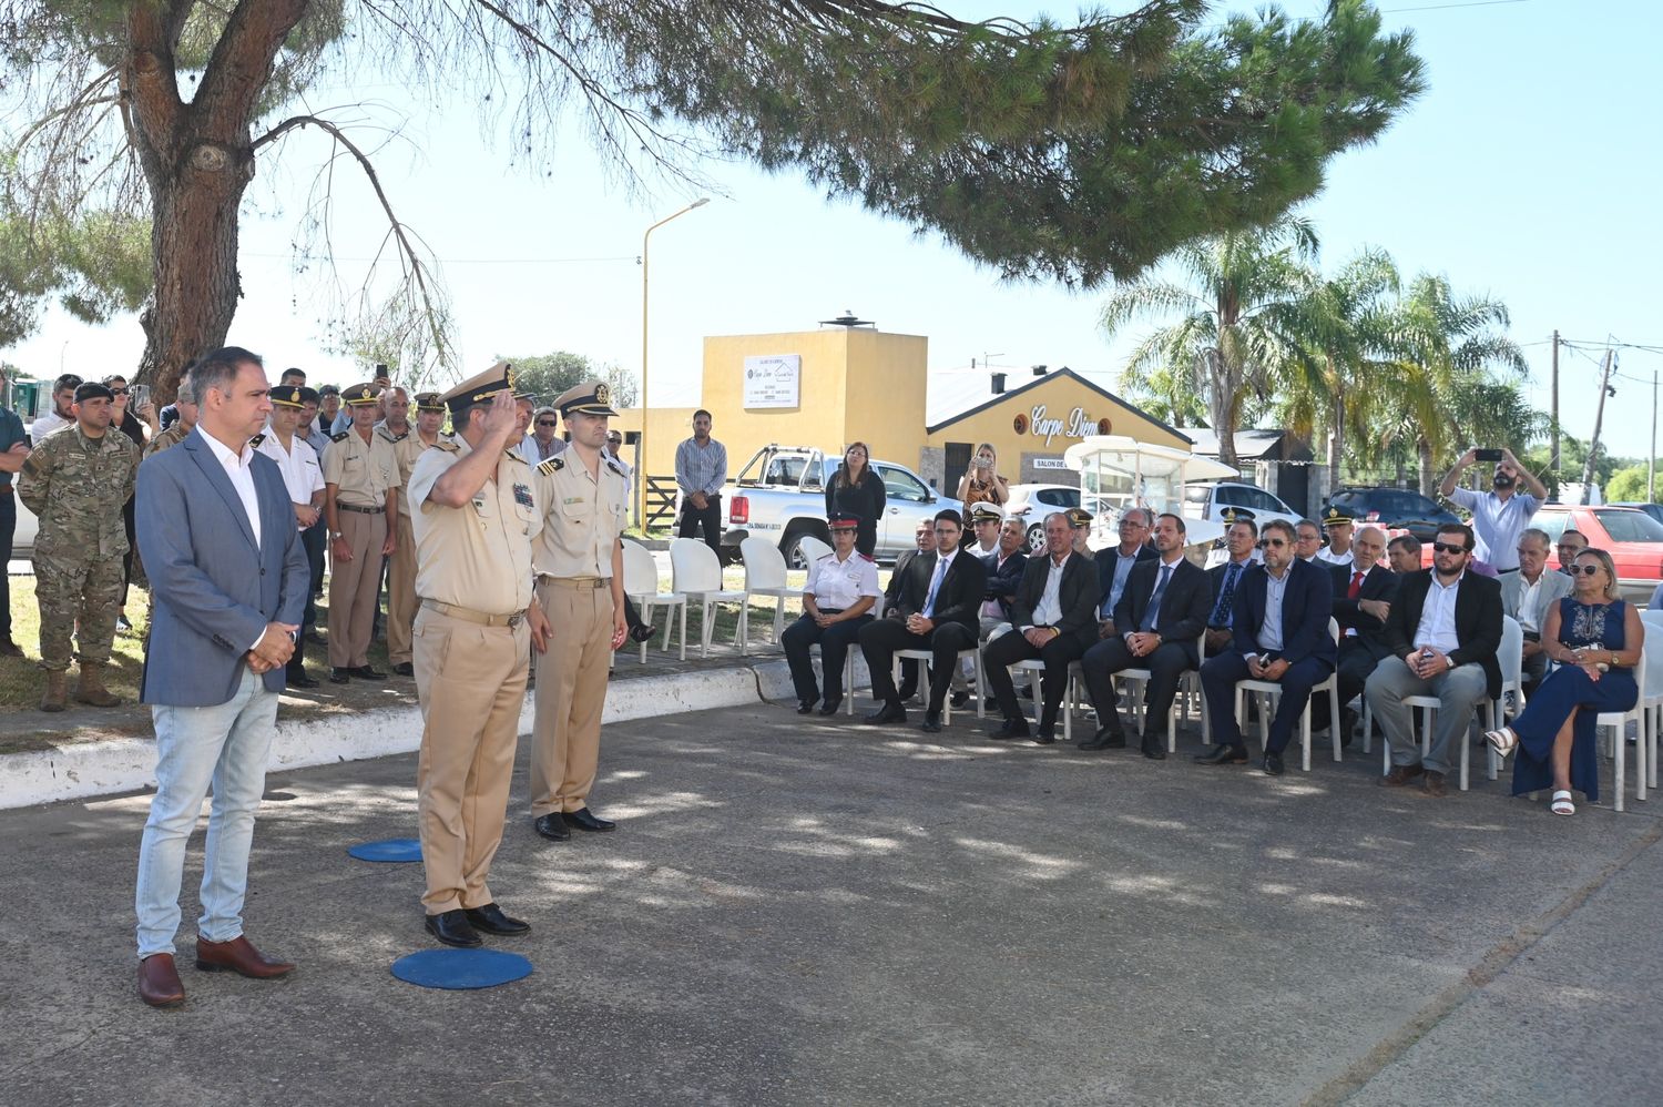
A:
POLYGON ((1335 651, 1329 636, 1334 586, 1327 569, 1294 556, 1294 528, 1287 523, 1266 523, 1259 544, 1264 564, 1249 569, 1236 589, 1231 648, 1201 666, 1201 691, 1217 746, 1196 761, 1246 764, 1247 746, 1236 722, 1236 683, 1247 678, 1276 681, 1282 694, 1271 719, 1264 771, 1281 776, 1282 751, 1305 711, 1310 686, 1334 671, 1335 651))

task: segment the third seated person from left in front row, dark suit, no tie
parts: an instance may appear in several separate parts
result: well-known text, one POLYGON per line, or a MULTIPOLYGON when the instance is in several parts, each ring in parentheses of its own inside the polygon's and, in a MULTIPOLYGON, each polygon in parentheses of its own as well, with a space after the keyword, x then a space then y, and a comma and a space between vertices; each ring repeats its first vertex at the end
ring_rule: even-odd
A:
POLYGON ((1044 661, 1039 679, 1041 712, 1034 741, 1056 741, 1056 712, 1068 688, 1068 666, 1098 641, 1098 566, 1073 549, 1068 516, 1053 511, 1044 519, 1044 556, 1029 558, 1011 603, 1011 629, 981 651, 988 689, 1004 722, 994 737, 1028 737, 1028 721, 1016 702, 1009 666, 1034 658, 1044 661))

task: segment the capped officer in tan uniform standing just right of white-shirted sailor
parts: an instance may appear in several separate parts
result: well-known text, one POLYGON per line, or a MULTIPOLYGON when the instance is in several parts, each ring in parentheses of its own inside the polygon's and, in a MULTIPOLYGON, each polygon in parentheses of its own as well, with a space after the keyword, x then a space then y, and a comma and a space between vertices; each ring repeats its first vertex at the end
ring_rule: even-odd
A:
POLYGON ((353 426, 331 436, 323 454, 324 519, 329 523, 329 683, 384 681, 369 668, 381 559, 397 549, 399 466, 376 434, 381 405, 374 386, 341 391, 353 426))

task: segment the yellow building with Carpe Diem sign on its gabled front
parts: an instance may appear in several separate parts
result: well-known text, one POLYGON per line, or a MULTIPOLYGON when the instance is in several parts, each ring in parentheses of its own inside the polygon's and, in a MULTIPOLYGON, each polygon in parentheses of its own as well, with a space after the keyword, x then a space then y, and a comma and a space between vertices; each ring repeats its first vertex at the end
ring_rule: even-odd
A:
MULTIPOLYGON (((978 443, 993 443, 1011 483, 1073 484, 1063 451, 1086 434, 1189 448, 1171 426, 1073 370, 1006 390, 1006 373, 928 373, 930 340, 858 326, 705 338, 700 406, 727 446, 728 476, 770 444, 833 454, 865 441, 871 456, 905 464, 951 496, 978 443)), ((1036 370, 1041 371, 1041 370, 1036 370)), ((693 408, 647 416, 645 471, 674 476, 675 448, 692 433, 693 408)), ((642 429, 642 411, 614 426, 642 429)), ((625 456, 632 456, 625 451, 625 456)))

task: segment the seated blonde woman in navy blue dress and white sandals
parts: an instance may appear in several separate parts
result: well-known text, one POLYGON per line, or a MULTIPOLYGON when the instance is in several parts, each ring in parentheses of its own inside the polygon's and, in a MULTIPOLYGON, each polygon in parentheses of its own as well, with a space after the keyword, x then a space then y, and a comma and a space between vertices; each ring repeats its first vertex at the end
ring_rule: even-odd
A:
POLYGON ((1645 629, 1633 604, 1618 599, 1616 566, 1603 549, 1583 549, 1570 566, 1573 591, 1548 608, 1543 653, 1558 663, 1512 726, 1485 739, 1503 757, 1513 749, 1513 796, 1552 786, 1553 814, 1577 812, 1572 789, 1600 797, 1595 721, 1601 711, 1628 711, 1640 691, 1635 666, 1645 629))

